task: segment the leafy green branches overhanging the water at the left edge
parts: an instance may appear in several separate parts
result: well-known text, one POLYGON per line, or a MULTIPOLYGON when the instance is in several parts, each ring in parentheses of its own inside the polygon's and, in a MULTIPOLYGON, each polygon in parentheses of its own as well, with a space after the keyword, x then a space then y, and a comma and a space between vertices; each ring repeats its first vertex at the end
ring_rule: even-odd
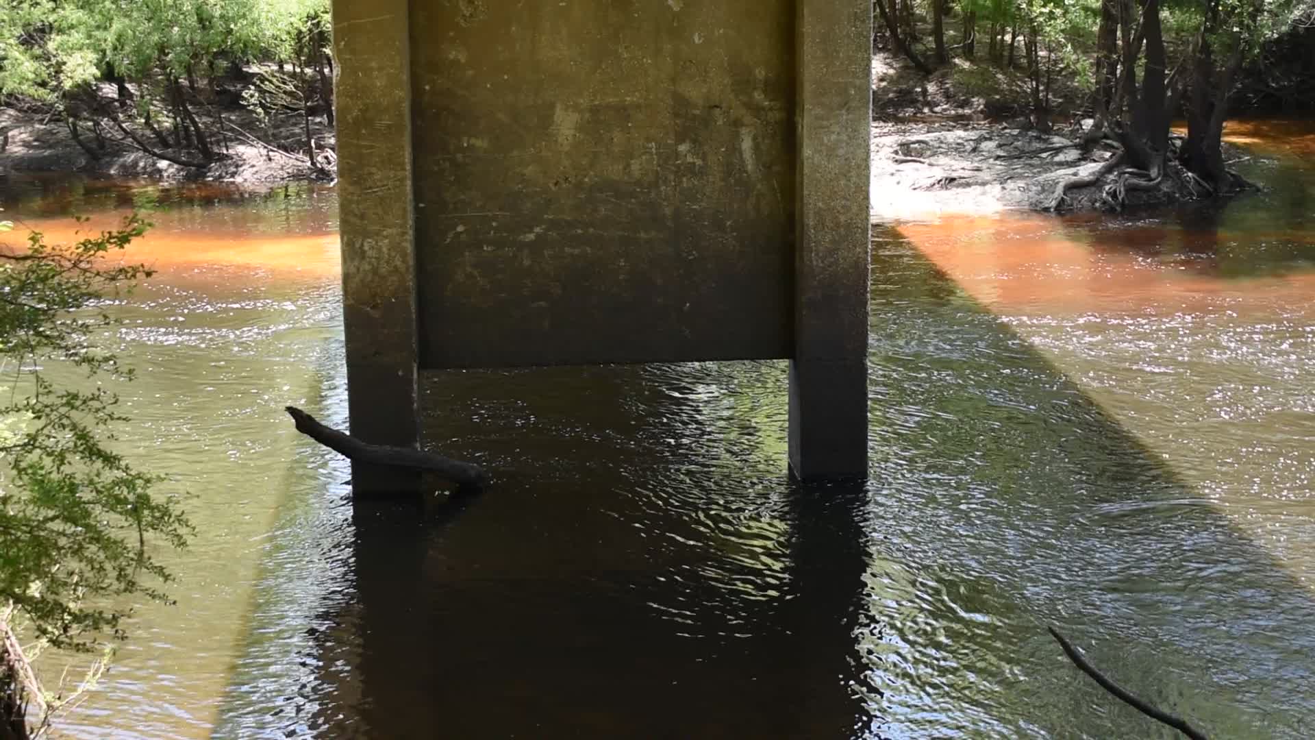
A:
POLYGON ((126 610, 113 596, 167 599, 170 574, 153 557, 159 540, 183 546, 189 524, 172 498, 151 494, 155 477, 108 445, 124 421, 103 384, 128 379, 117 358, 95 346, 116 324, 103 305, 149 275, 112 265, 149 224, 51 248, 33 232, 22 250, 0 251, 0 604, 12 602, 55 647, 89 648, 99 633, 122 636, 126 610), (95 377, 93 390, 62 387, 49 363, 95 377))

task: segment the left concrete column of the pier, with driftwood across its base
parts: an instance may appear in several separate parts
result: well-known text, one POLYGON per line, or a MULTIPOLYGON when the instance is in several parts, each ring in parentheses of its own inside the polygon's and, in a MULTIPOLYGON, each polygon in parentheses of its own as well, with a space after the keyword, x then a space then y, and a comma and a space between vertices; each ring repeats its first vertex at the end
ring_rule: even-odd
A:
MULTIPOLYGON (((333 0, 338 203, 351 433, 416 446, 416 248, 408 0, 333 0)), ((352 465, 359 495, 419 477, 352 465)))

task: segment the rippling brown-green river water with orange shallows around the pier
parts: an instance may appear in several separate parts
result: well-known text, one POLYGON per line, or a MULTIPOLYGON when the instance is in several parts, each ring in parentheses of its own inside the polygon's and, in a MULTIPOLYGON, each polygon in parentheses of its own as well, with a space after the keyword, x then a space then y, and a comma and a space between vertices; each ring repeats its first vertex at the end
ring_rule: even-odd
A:
POLYGON ((154 208, 125 445, 197 524, 70 737, 1220 737, 1315 728, 1315 129, 1222 213, 874 229, 871 481, 786 479, 781 362, 464 371, 476 498, 346 499, 331 190, 24 178, 154 208))

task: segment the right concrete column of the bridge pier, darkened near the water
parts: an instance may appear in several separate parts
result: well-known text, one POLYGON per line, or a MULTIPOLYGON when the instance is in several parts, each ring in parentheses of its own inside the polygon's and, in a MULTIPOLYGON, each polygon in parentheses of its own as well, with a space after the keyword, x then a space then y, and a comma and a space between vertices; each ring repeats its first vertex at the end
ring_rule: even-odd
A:
POLYGON ((790 470, 868 471, 869 0, 798 0, 790 470))

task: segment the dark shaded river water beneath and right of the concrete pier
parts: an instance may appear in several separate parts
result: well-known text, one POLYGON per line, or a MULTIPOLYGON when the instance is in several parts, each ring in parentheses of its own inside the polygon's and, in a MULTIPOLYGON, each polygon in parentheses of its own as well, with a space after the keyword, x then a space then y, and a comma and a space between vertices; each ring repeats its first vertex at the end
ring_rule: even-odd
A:
POLYGON ((1053 623, 1214 735, 1303 736, 1306 587, 902 240, 876 242, 873 284, 861 487, 780 471, 781 363, 434 377, 429 444, 502 475, 358 506, 309 726, 1160 736, 1053 623))

